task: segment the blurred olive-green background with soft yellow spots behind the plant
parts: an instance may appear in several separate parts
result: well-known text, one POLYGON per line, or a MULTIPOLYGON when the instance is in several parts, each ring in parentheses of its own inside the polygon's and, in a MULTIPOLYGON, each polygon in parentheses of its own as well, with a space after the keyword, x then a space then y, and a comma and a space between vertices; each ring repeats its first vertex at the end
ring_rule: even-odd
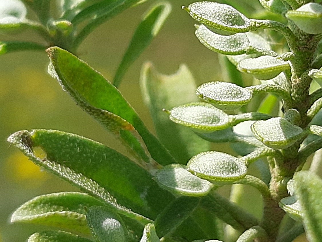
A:
MULTIPOLYGON (((101 25, 83 42, 79 57, 112 80, 141 16, 154 2, 147 1, 128 9, 101 25)), ((195 38, 194 21, 181 9, 182 5, 189 5, 192 1, 170 2, 173 11, 169 19, 152 44, 130 67, 120 86, 122 94, 152 131, 152 121, 139 89, 139 72, 144 61, 152 61, 165 74, 174 73, 181 63, 185 63, 197 84, 222 79, 217 55, 195 38)), ((251 2, 254 6, 259 5, 257 0, 251 2)), ((14 36, 14 39, 21 40, 35 38, 38 37, 29 32, 14 36)), ((13 37, 0 35, 0 40, 10 39, 13 37)), ((75 190, 59 178, 42 172, 18 149, 9 148, 6 138, 11 133, 22 129, 58 129, 97 140, 124 153, 120 143, 82 112, 58 82, 47 74, 48 63, 46 54, 42 52, 0 56, 0 242, 24 241, 42 229, 9 224, 11 213, 22 203, 44 193, 75 190)))

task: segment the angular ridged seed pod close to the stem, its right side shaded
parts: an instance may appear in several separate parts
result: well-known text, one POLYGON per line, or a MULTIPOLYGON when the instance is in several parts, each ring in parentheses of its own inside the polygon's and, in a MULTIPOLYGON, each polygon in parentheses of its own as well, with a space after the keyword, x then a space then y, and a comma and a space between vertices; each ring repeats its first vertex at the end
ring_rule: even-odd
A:
POLYGON ((284 149, 293 145, 303 135, 303 129, 281 117, 256 121, 251 125, 254 136, 273 149, 284 149))

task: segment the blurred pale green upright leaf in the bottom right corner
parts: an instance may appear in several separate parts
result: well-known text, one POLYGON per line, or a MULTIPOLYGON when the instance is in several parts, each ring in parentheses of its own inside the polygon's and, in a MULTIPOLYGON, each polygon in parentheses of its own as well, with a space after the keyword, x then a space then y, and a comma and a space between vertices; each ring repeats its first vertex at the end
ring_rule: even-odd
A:
POLYGON ((303 214, 304 228, 309 241, 318 242, 322 238, 322 180, 308 171, 294 176, 295 194, 303 214))

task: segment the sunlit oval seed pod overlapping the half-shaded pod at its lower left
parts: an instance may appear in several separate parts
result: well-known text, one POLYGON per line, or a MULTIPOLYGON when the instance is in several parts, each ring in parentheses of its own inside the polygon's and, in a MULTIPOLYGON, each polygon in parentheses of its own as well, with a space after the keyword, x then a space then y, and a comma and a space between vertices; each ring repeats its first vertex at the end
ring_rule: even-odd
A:
POLYGON ((207 151, 193 156, 188 164, 188 171, 201 178, 232 182, 246 175, 247 167, 241 159, 226 153, 207 151))

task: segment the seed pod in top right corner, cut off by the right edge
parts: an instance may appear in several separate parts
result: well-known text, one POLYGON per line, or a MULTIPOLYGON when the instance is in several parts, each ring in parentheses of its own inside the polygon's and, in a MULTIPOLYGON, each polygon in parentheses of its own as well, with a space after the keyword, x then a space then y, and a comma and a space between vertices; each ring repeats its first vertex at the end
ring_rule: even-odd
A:
POLYGON ((308 34, 322 33, 322 5, 307 3, 296 10, 289 10, 285 16, 300 30, 308 34))

